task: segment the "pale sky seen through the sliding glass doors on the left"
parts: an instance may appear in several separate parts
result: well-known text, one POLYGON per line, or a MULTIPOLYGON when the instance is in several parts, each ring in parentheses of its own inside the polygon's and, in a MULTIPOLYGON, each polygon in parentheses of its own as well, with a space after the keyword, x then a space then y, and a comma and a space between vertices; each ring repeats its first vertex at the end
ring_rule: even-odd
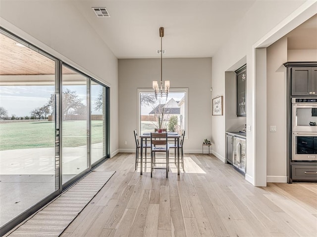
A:
MULTIPOLYGON (((86 105, 86 85, 65 85, 63 89, 69 88, 76 91, 78 98, 86 105)), ((92 102, 96 100, 99 91, 102 89, 100 85, 92 85, 92 102)), ((54 94, 54 85, 19 85, 19 86, 0 86, 0 107, 7 110, 9 117, 25 117, 31 114, 31 111, 37 107, 42 107, 48 103, 51 94, 54 94)), ((93 114, 100 114, 94 111, 93 114)))

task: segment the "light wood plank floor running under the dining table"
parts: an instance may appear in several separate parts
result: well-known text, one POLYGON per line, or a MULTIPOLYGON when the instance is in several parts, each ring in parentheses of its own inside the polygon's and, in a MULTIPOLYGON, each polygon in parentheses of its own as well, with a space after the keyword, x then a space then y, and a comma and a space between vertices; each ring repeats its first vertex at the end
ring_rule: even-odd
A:
MULTIPOLYGON (((252 186, 229 164, 186 155, 185 172, 134 171, 135 154, 98 167, 116 171, 62 237, 317 236, 317 184, 252 186)), ((138 170, 139 171, 139 170, 138 170)))

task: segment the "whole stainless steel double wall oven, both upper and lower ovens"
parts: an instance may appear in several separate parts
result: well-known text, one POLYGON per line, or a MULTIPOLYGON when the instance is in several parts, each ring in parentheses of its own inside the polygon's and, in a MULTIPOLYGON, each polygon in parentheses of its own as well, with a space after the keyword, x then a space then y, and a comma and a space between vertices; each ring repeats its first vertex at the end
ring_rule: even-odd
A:
POLYGON ((317 98, 292 98, 292 160, 317 160, 317 98))

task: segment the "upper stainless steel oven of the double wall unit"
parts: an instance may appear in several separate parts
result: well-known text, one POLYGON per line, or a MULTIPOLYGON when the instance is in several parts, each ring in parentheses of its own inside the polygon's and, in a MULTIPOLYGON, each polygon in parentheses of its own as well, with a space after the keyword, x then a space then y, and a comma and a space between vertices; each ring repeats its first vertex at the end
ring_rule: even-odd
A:
POLYGON ((292 98, 292 131, 317 132, 317 98, 292 98))

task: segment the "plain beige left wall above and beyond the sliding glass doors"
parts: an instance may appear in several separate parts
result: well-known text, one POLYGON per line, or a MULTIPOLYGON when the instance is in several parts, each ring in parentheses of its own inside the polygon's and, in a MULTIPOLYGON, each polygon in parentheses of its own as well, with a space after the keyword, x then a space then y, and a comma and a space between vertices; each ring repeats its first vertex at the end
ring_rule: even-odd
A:
POLYGON ((0 25, 110 86, 110 153, 118 150, 117 59, 65 1, 0 1, 0 25))

